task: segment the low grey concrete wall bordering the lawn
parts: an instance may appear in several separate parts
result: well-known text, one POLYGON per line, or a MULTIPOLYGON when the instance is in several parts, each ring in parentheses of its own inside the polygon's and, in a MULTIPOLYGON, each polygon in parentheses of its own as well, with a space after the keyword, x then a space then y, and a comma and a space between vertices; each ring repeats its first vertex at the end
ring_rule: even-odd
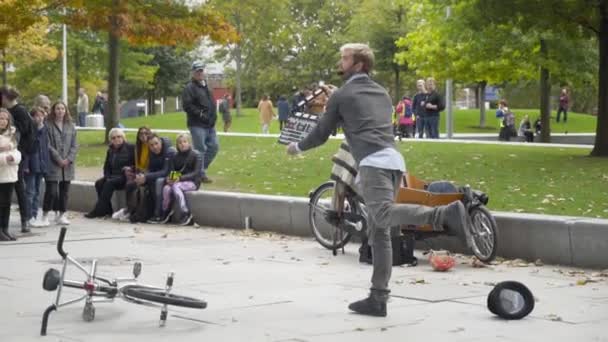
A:
MULTIPOLYGON (((115 208, 124 206, 124 193, 114 196, 115 208), (121 202, 121 203, 117 203, 121 202)), ((195 222, 202 226, 250 228, 287 235, 311 236, 308 198, 255 195, 221 191, 186 194, 195 222)), ((92 182, 74 181, 68 208, 89 211, 95 204, 92 182)), ((608 220, 492 212, 499 227, 498 255, 506 258, 541 259, 547 264, 608 268, 608 220)), ((425 241, 428 247, 462 252, 453 239, 425 241)), ((420 247, 425 247, 424 243, 420 247)))

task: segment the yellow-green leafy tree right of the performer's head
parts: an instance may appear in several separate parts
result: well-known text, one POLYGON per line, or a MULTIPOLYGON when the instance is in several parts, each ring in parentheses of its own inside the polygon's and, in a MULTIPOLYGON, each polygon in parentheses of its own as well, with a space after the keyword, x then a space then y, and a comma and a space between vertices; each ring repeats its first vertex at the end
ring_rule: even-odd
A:
POLYGON ((475 84, 480 103, 479 126, 485 127, 485 88, 531 79, 533 42, 509 25, 484 24, 484 16, 471 1, 422 1, 412 4, 411 31, 397 45, 407 49, 397 58, 419 75, 475 84))

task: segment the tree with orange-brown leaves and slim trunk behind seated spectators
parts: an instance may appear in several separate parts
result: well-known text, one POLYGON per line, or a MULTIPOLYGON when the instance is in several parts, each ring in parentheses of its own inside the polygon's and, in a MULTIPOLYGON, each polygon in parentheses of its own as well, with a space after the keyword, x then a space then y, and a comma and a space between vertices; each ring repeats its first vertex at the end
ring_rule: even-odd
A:
POLYGON ((218 43, 238 39, 217 12, 179 0, 57 0, 49 1, 49 6, 70 27, 108 32, 106 142, 107 133, 118 124, 120 40, 135 46, 193 46, 202 37, 218 43))

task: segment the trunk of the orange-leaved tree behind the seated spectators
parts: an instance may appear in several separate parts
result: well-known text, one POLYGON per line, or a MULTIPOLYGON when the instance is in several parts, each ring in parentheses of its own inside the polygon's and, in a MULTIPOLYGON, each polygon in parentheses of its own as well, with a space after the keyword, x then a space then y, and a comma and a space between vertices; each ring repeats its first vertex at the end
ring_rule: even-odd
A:
MULTIPOLYGON (((114 8, 118 7, 118 0, 112 1, 114 8)), ((108 108, 105 114, 106 136, 105 142, 108 143, 108 134, 113 127, 118 125, 118 58, 120 49, 120 39, 118 37, 118 17, 113 15, 110 17, 110 31, 108 40, 109 50, 109 70, 108 70, 108 108)))

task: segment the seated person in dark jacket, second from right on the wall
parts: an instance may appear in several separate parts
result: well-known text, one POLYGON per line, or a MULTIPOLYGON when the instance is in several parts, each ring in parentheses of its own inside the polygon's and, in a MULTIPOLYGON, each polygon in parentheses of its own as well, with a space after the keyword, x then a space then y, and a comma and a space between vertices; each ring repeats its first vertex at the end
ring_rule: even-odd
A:
POLYGON ((150 164, 148 172, 143 174, 143 179, 136 182, 144 183, 148 188, 148 193, 151 195, 152 202, 152 218, 148 223, 160 223, 162 221, 162 192, 165 185, 165 178, 169 174, 169 164, 176 150, 171 146, 171 142, 167 138, 161 138, 152 133, 148 137, 148 147, 150 149, 150 164))

